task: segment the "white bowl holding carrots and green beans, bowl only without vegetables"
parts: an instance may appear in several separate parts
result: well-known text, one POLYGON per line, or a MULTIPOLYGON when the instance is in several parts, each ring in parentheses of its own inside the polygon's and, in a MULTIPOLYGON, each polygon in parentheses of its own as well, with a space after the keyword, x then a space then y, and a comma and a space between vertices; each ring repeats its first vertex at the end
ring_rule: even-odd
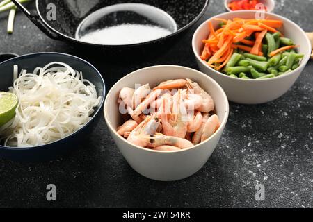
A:
POLYGON ((207 39, 209 36, 209 28, 207 26, 208 22, 212 22, 214 28, 216 28, 220 22, 214 20, 215 18, 234 19, 236 17, 240 17, 243 19, 252 19, 255 18, 255 13, 257 13, 257 11, 241 10, 217 15, 216 17, 208 19, 201 26, 199 26, 193 35, 193 53, 195 53, 195 58, 198 62, 200 70, 204 72, 204 74, 214 78, 214 80, 216 80, 223 87, 228 99, 236 103, 259 104, 278 99, 280 96, 284 95, 292 85, 294 85, 297 78, 305 68, 307 61, 310 59, 311 44, 307 35, 305 35, 305 32, 289 19, 268 12, 265 12, 265 17, 268 19, 279 19, 284 22, 284 26, 280 28, 280 31, 284 33, 286 37, 294 40, 295 44, 300 45, 298 51, 299 53, 304 54, 305 57, 303 58, 298 69, 276 78, 268 78, 265 80, 245 80, 241 78, 232 78, 220 73, 219 71, 209 67, 207 62, 204 62, 200 58, 200 53, 202 52, 204 46, 202 40, 207 39))

